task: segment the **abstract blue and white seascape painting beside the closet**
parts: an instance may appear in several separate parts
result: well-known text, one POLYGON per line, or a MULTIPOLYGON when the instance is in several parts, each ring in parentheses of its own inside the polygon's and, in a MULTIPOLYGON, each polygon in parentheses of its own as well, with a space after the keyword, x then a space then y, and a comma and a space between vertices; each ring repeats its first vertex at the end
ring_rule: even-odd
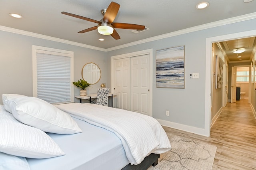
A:
POLYGON ((185 88, 185 46, 156 50, 156 87, 185 88))

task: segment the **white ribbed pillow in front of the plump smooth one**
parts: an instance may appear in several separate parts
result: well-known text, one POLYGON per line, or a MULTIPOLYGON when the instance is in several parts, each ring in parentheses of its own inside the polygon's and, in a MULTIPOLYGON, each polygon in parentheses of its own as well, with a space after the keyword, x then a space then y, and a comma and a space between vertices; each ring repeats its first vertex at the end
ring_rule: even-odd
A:
POLYGON ((27 158, 64 155, 58 144, 38 128, 24 125, 0 105, 0 152, 27 158))

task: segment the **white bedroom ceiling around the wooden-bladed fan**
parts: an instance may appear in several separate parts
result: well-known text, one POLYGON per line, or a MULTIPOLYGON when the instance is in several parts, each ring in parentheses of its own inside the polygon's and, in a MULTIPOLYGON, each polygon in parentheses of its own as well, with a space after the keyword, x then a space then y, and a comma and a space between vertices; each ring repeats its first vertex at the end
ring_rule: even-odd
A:
POLYGON ((69 40, 108 49, 118 45, 152 38, 218 20, 256 12, 256 0, 205 0, 210 6, 196 9, 203 0, 115 0, 120 4, 114 22, 145 25, 149 30, 133 33, 116 29, 120 40, 103 36, 97 30, 79 34, 96 26, 93 22, 61 14, 62 11, 94 20, 103 18, 100 10, 106 9, 111 0, 0 0, 0 25, 54 38, 69 40), (9 13, 18 13, 21 19, 9 13), (98 39, 104 38, 100 42, 98 39))

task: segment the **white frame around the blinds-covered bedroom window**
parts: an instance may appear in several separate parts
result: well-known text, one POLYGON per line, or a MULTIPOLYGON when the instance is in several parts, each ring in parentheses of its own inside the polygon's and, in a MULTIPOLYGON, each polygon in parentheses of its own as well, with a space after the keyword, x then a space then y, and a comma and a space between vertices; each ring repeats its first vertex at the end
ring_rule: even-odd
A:
POLYGON ((32 45, 33 96, 37 97, 37 53, 70 57, 70 102, 74 102, 74 52, 50 47, 32 45))

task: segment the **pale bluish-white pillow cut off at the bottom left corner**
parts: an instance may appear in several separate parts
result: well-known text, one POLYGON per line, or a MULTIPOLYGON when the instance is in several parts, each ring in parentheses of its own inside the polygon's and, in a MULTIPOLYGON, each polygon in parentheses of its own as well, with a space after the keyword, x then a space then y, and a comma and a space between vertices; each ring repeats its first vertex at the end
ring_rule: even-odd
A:
POLYGON ((26 158, 0 152, 0 170, 30 170, 26 158))

